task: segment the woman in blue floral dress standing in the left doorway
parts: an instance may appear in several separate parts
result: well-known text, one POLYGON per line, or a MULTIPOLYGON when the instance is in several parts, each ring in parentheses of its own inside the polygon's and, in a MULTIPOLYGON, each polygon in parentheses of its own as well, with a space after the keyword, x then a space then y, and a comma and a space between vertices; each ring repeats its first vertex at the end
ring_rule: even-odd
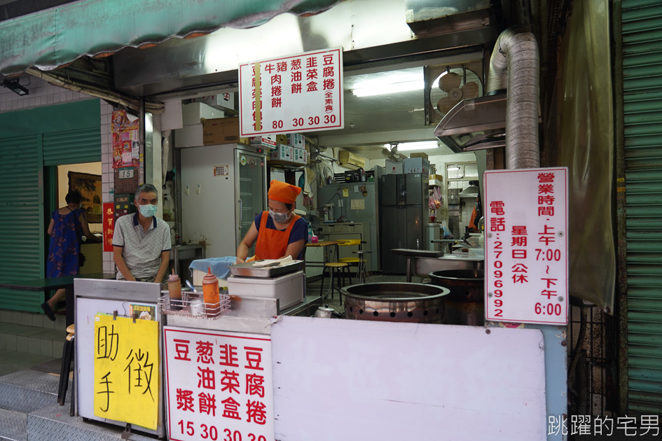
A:
MULTIPOLYGON (((85 211, 81 209, 83 197, 78 190, 67 193, 64 197, 67 206, 53 211, 48 225, 50 246, 48 247, 48 260, 46 261, 46 277, 74 276, 78 274, 78 256, 81 253, 81 237, 85 235, 92 241, 99 241, 90 233, 85 211)), ((55 291, 48 302, 41 304, 41 308, 50 320, 55 320, 53 308, 64 296, 64 288, 55 291)))

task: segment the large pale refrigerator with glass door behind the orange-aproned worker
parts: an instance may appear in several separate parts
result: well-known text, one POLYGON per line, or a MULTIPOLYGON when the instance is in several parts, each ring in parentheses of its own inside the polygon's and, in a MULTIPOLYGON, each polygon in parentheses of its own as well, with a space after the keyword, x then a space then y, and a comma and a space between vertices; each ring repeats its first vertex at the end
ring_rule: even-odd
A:
POLYGON ((267 207, 265 154, 241 144, 180 151, 182 241, 205 241, 208 258, 236 255, 254 217, 267 207))

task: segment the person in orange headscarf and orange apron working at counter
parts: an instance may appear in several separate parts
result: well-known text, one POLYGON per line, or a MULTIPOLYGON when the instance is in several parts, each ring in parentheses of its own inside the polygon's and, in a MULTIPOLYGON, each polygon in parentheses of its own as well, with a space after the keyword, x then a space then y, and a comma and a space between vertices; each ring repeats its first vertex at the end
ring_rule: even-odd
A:
POLYGON ((253 225, 237 248, 237 263, 246 261, 255 243, 255 260, 280 259, 291 255, 301 259, 308 241, 308 223, 294 214, 296 196, 301 188, 280 181, 269 184, 269 211, 255 216, 253 225))

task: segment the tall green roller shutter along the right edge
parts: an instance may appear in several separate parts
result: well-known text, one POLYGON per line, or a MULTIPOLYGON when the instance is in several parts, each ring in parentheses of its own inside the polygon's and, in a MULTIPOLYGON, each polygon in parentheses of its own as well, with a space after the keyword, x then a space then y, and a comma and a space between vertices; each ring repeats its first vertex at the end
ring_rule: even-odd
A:
POLYGON ((662 414, 662 3, 621 8, 628 409, 662 414))

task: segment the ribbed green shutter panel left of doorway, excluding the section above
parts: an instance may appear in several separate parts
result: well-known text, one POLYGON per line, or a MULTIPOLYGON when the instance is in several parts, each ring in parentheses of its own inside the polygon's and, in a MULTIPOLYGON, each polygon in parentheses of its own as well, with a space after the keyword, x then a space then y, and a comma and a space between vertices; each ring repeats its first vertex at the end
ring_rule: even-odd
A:
MULTIPOLYGON (((43 191, 39 136, 0 139, 0 277, 44 274, 43 191)), ((40 310, 43 293, 0 289, 2 309, 40 310)))

